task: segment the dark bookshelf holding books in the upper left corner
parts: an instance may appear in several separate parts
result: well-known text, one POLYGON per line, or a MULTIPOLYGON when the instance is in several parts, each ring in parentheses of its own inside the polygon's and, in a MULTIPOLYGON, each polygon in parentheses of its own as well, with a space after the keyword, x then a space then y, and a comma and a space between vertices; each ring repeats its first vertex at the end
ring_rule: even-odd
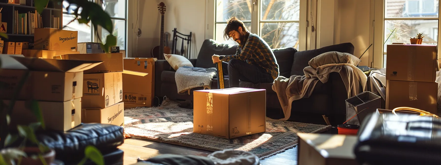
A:
MULTIPOLYGON (((15 0, 17 1, 17 0, 15 0)), ((26 23, 26 32, 23 30, 19 30, 19 32, 15 33, 15 20, 17 18, 15 17, 16 11, 18 11, 18 14, 24 14, 24 13, 36 13, 35 7, 34 7, 34 1, 35 0, 18 0, 18 1, 26 1, 26 5, 23 3, 20 4, 8 4, 7 0, 0 0, 0 7, 3 7, 1 11, 1 22, 7 23, 7 35, 8 39, 2 38, 4 41, 11 41, 11 42, 34 42, 34 35, 32 34, 31 30, 29 29, 29 23, 26 23)), ((44 8, 42 13, 38 13, 41 16, 41 26, 43 28, 53 28, 54 24, 58 26, 60 29, 63 25, 63 9, 61 4, 54 4, 52 1, 49 1, 49 4, 46 8, 44 8), (56 21, 56 23, 53 23, 51 20, 53 20, 53 17, 57 17, 59 21, 56 21)), ((34 15, 34 14, 33 14, 34 15)), ((22 15, 24 17, 24 15, 22 15)), ((37 14, 34 15, 37 20, 37 14)), ((18 17, 20 18, 20 17, 18 17)), ((29 19, 30 16, 26 15, 26 21, 29 19)), ((24 18, 23 18, 24 20, 24 18)), ((24 26, 23 26, 24 27, 24 26)), ((37 25, 35 25, 37 27, 37 25)), ((18 29, 18 28, 17 28, 18 29)))

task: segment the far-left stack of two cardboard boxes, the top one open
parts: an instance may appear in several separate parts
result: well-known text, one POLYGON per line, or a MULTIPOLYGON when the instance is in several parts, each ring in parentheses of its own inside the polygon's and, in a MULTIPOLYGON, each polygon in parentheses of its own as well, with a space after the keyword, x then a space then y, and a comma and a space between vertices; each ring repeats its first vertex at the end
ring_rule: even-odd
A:
MULTIPOLYGON (((49 129, 67 131, 81 123, 82 71, 101 62, 40 59, 22 55, 1 55, 0 58, 0 82, 7 86, 0 89, 0 93, 13 93, 29 70, 29 77, 16 97, 19 101, 11 114, 11 121, 14 121, 11 122, 11 129, 37 121, 28 109, 36 104, 49 129)), ((12 99, 12 95, 0 97, 5 102, 12 99)))

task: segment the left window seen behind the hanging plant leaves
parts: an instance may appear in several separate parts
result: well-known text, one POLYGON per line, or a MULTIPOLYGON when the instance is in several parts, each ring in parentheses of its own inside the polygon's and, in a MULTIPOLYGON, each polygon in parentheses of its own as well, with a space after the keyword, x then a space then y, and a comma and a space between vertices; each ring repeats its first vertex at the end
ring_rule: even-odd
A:
MULTIPOLYGON (((93 0, 90 0, 93 1, 93 0)), ((96 0, 98 3, 102 3, 103 10, 110 15, 113 22, 113 35, 117 37, 117 46, 120 50, 126 49, 126 25, 127 15, 126 6, 127 0, 96 0)), ((75 15, 72 15, 77 9, 75 4, 71 4, 63 1, 63 29, 78 31, 78 42, 98 42, 98 36, 93 33, 93 27, 89 24, 79 24, 78 21, 71 22, 75 19, 75 15), (69 23, 71 22, 71 23, 69 23)), ((78 13, 81 13, 81 8, 78 9, 78 13)), ((98 27, 98 34, 101 37, 101 41, 105 41, 105 37, 109 34, 107 30, 98 27)))

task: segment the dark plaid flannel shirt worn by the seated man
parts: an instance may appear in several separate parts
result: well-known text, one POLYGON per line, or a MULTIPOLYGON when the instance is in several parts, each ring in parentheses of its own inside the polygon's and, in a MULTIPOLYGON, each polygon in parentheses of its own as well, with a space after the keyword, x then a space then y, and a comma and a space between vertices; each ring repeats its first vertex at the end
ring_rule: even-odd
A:
POLYGON ((225 55, 221 61, 239 59, 249 64, 260 66, 266 70, 273 79, 279 77, 279 65, 269 45, 258 35, 247 32, 242 44, 239 44, 235 55, 225 55))

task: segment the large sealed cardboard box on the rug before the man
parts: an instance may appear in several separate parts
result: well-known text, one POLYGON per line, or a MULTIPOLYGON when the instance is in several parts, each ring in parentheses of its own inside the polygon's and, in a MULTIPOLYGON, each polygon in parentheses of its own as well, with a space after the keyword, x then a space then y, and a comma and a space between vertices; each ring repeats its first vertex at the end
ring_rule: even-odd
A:
POLYGON ((265 89, 194 91, 193 132, 225 139, 265 132, 265 89))

